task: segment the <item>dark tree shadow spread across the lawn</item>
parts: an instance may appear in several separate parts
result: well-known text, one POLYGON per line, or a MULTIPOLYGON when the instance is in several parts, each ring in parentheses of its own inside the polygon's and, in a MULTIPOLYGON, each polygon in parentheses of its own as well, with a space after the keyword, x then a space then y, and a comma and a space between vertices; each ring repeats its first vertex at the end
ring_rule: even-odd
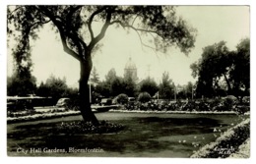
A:
MULTIPOLYGON (((67 121, 69 122, 69 121, 67 121)), ((25 148, 102 148, 106 152, 139 153, 160 152, 160 150, 173 149, 175 144, 172 137, 185 137, 213 133, 215 127, 219 127, 218 120, 210 118, 160 118, 145 117, 126 120, 112 120, 111 123, 122 124, 125 130, 114 134, 57 134, 56 130, 61 122, 38 123, 33 125, 21 125, 16 131, 8 132, 8 151, 15 151, 17 144, 25 148), (160 140, 160 137, 169 137, 160 140), (15 144, 14 144, 15 143, 15 144)), ((223 125, 226 126, 226 125, 223 125)), ((189 143, 183 143, 185 149, 192 149, 189 143)))

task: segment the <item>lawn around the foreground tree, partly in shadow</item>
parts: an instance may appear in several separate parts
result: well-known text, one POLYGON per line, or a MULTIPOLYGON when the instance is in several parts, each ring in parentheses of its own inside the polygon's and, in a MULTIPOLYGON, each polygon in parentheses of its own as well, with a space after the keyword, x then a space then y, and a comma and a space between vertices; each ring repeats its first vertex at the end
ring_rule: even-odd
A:
MULTIPOLYGON (((9 156, 189 157, 241 122, 229 114, 97 113, 98 120, 122 124, 117 134, 56 133, 69 116, 7 125, 9 156)), ((248 117, 248 116, 243 116, 248 117)))

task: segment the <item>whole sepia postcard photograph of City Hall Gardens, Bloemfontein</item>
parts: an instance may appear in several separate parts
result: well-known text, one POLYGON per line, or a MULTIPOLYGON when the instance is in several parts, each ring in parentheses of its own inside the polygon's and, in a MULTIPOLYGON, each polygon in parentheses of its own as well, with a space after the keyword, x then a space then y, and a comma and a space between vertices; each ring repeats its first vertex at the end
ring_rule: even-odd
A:
POLYGON ((9 157, 251 157, 250 6, 6 6, 9 157))

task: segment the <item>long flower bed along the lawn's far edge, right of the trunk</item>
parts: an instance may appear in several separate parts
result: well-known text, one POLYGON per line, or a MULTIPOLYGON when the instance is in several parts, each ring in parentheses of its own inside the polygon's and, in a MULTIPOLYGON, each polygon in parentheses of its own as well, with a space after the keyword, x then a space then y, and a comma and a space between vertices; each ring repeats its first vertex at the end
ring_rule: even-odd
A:
MULTIPOLYGON (((227 99, 228 100, 228 99, 227 99)), ((183 112, 232 112, 244 114, 250 111, 248 104, 241 104, 236 101, 227 101, 222 99, 214 100, 193 100, 193 101, 176 101, 167 100, 149 101, 149 102, 128 102, 122 105, 123 110, 129 111, 180 111, 183 112)))

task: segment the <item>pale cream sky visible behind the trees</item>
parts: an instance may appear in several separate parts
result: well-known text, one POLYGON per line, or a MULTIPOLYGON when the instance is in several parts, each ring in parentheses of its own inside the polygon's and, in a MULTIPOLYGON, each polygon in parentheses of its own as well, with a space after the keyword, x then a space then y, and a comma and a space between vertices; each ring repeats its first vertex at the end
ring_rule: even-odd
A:
MULTIPOLYGON (((191 76, 190 65, 201 57, 202 48, 224 40, 226 46, 233 50, 242 38, 250 37, 248 6, 178 6, 176 9, 179 17, 197 29, 195 47, 188 56, 175 47, 169 48, 165 54, 156 54, 141 44, 135 31, 109 27, 100 41, 103 46, 93 58, 100 80, 104 80, 111 68, 115 69, 117 76, 122 77, 125 64, 131 57, 137 66, 140 80, 150 75, 156 82, 160 82, 162 73, 166 71, 175 84, 196 82, 191 76)), ((8 76, 13 71, 10 49, 8 76)), ((32 42, 32 62, 32 75, 37 84, 54 75, 57 78, 65 77, 70 86, 78 86, 79 62, 63 51, 58 35, 50 27, 40 30, 39 39, 32 42)))

